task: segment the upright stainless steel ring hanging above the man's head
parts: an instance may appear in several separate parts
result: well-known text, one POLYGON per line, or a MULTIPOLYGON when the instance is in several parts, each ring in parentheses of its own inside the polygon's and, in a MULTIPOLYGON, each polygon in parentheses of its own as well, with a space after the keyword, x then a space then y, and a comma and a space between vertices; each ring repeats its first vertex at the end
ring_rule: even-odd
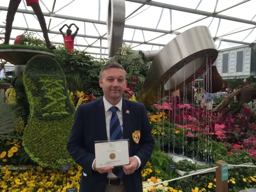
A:
POLYGON ((108 0, 107 37, 108 57, 116 55, 122 46, 125 23, 125 0, 108 0))

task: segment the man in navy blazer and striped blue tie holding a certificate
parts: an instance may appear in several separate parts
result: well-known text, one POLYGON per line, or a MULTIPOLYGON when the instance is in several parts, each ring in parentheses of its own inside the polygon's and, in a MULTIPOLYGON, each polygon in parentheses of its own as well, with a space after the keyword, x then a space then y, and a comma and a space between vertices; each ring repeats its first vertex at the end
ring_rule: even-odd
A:
POLYGON ((127 80, 120 64, 106 64, 100 72, 99 84, 104 97, 78 107, 67 143, 69 154, 83 168, 79 191, 142 192, 141 171, 154 148, 146 108, 122 98, 127 80), (140 138, 136 139, 138 131, 140 138), (96 168, 94 142, 119 139, 129 139, 130 163, 119 169, 96 168))

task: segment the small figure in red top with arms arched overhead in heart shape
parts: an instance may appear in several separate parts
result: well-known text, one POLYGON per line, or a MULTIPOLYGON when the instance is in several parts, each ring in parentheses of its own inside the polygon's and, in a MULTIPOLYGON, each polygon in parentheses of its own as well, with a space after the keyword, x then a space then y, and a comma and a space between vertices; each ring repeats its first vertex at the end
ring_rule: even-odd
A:
POLYGON ((63 38, 64 38, 64 44, 65 44, 65 48, 67 49, 67 51, 69 53, 74 52, 74 39, 77 35, 77 32, 79 30, 78 26, 76 26, 76 24, 72 23, 70 24, 70 26, 68 26, 67 24, 64 24, 60 29, 60 33, 62 34, 63 38), (74 34, 72 33, 72 30, 70 29, 71 26, 74 25, 76 27, 76 31, 74 32, 74 34), (62 32, 62 29, 67 26, 68 29, 66 31, 66 35, 64 34, 64 32, 62 32))

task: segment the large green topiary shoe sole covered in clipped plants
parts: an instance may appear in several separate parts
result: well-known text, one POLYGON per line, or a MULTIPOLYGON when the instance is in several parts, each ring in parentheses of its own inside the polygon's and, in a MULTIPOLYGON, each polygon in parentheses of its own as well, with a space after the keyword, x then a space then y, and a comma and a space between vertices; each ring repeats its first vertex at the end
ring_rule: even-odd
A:
POLYGON ((72 163, 66 143, 75 108, 62 68, 49 56, 38 55, 26 65, 23 81, 30 104, 23 136, 26 152, 40 166, 59 168, 60 164, 72 163))

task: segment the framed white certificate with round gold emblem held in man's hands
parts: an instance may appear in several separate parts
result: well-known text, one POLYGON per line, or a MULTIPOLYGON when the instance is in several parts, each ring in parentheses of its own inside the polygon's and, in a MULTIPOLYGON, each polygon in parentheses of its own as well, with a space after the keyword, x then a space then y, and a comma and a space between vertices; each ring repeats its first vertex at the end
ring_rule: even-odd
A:
POLYGON ((129 140, 95 141, 96 168, 129 164, 129 140))

